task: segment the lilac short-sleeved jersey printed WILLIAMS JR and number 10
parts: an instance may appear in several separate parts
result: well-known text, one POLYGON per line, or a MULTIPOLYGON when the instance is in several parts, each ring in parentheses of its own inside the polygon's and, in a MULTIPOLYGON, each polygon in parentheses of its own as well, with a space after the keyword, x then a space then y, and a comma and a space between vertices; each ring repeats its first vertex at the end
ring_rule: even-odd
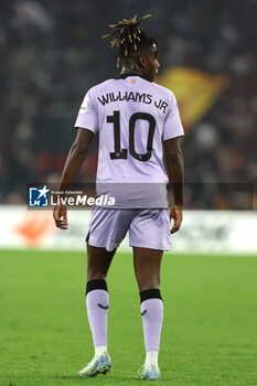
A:
POLYGON ((75 127, 99 130, 97 184, 167 184, 162 141, 184 133, 172 92, 137 75, 92 87, 75 127))

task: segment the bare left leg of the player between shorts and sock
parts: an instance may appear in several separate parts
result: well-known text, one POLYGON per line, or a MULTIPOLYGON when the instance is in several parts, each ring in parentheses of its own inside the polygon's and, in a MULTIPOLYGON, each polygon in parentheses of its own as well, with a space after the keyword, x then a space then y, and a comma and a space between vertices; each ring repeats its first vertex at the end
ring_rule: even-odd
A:
POLYGON ((106 279, 116 249, 93 247, 87 242, 87 281, 106 279))

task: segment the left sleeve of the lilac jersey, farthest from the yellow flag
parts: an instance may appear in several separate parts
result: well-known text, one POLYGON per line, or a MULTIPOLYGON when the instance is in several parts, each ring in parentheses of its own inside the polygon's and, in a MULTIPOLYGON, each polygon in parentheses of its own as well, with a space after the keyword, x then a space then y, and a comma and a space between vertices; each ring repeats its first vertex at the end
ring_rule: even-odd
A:
POLYGON ((98 130, 98 114, 94 103, 94 88, 90 88, 82 103, 77 119, 74 125, 76 128, 88 129, 94 133, 98 130))

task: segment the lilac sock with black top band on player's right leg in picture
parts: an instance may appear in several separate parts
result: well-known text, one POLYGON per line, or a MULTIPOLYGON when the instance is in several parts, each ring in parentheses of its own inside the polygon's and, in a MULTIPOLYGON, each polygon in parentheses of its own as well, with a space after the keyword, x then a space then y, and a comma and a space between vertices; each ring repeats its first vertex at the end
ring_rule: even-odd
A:
POLYGON ((143 337, 147 352, 159 352, 163 303, 159 289, 140 292, 143 337))

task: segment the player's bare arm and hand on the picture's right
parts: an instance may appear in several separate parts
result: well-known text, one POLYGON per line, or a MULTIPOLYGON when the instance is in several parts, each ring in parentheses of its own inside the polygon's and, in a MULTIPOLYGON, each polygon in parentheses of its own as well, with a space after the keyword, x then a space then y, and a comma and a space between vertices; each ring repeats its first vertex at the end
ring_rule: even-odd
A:
POLYGON ((182 223, 184 164, 180 137, 163 141, 163 147, 167 173, 174 194, 174 205, 170 208, 170 218, 174 219, 172 234, 179 230, 182 223))

